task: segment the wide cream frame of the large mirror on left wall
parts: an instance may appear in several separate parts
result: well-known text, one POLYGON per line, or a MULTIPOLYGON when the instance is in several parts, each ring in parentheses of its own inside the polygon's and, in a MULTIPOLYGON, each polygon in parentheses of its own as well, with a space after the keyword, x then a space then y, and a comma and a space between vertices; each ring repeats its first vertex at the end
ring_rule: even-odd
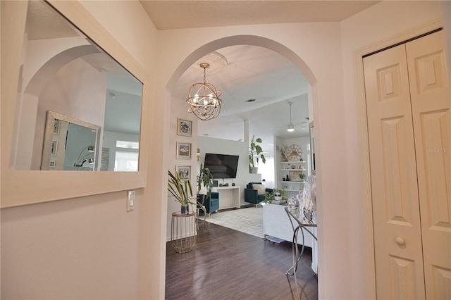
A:
POLYGON ((121 63, 143 84, 140 150, 137 172, 73 172, 14 170, 11 141, 14 130, 20 54, 27 17, 27 1, 1 1, 1 208, 125 191, 146 186, 149 75, 128 51, 78 1, 47 1, 56 11, 121 63), (143 138, 144 137, 144 138, 143 138), (74 184, 76 182, 76 184, 74 184))

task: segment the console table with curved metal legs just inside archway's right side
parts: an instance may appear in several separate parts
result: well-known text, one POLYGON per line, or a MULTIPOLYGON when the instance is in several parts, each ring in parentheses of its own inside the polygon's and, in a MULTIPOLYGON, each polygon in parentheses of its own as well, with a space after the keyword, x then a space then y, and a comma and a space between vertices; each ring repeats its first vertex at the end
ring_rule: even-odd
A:
POLYGON ((318 275, 318 266, 317 266, 317 261, 316 261, 316 243, 314 243, 314 245, 311 248, 311 266, 307 265, 307 263, 304 262, 304 260, 302 260, 302 254, 304 253, 304 232, 309 233, 309 235, 311 235, 312 237, 314 237, 315 242, 318 241, 318 239, 316 238, 316 224, 310 224, 310 223, 302 223, 302 219, 304 217, 304 215, 301 213, 293 213, 291 212, 288 207, 285 207, 285 212, 288 214, 288 218, 290 219, 290 223, 291 223, 291 227, 293 230, 293 239, 292 239, 292 256, 293 256, 293 265, 291 268, 289 268, 287 270, 287 272, 285 272, 285 275, 290 275, 290 276, 294 276, 295 277, 295 285, 296 285, 296 292, 297 292, 297 297, 298 299, 300 298, 300 294, 299 294, 299 287, 297 285, 297 280, 296 280, 296 270, 297 270, 297 263, 299 263, 299 261, 302 261, 302 263, 304 263, 304 265, 309 268, 313 273, 315 273, 315 275, 318 275), (301 251, 299 251, 299 244, 297 242, 297 235, 299 234, 299 231, 302 233, 302 248, 301 251), (314 270, 315 269, 315 270, 314 270), (292 273, 291 273, 292 272, 292 273))

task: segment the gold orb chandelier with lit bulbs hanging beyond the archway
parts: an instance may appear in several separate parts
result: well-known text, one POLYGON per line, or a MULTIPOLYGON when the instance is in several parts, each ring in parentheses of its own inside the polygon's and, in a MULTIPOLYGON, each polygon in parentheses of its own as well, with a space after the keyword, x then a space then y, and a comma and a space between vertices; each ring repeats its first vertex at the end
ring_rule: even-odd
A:
POLYGON ((216 87, 210 83, 205 82, 205 69, 209 68, 208 63, 201 63, 200 67, 204 69, 204 82, 194 83, 190 87, 190 93, 186 103, 190 106, 188 112, 200 120, 211 120, 216 118, 221 111, 221 96, 220 91, 216 91, 216 87))

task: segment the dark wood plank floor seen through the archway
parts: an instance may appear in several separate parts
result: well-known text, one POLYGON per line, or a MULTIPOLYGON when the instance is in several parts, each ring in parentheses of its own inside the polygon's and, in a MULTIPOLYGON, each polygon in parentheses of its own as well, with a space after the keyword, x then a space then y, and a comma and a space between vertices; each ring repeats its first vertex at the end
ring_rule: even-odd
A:
MULTIPOLYGON (((178 254, 166 244, 166 299, 296 299, 291 243, 276 244, 206 223, 192 251, 178 254)), ((311 263, 306 249, 304 261, 311 263)), ((302 263, 297 270, 302 299, 318 299, 316 276, 302 263)))

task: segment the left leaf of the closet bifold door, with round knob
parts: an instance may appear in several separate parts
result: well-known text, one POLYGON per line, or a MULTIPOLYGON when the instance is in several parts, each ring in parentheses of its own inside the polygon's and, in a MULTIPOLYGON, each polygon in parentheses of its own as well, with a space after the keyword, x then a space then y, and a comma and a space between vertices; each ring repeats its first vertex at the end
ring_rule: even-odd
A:
POLYGON ((405 46, 364 58, 378 299, 424 299, 405 46))

